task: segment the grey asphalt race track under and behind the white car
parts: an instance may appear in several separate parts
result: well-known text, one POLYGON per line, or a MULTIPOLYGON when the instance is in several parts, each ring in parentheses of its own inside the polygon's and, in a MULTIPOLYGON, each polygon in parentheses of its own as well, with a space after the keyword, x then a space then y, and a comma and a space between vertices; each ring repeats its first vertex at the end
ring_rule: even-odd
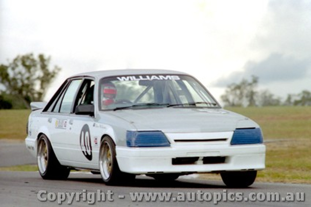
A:
MULTIPOLYGON (((23 143, 0 142, 0 166, 35 163, 35 159, 28 157, 30 154, 27 154, 29 152, 24 151, 23 147, 23 143)), ((67 205, 309 207, 311 185, 255 182, 248 188, 233 189, 227 188, 221 181, 200 180, 187 176, 174 182, 158 182, 146 176, 137 176, 134 182, 128 184, 106 186, 100 175, 87 172, 72 172, 68 180, 53 181, 43 180, 38 172, 0 171, 1 207, 67 205), (131 197, 138 195, 135 193, 152 193, 158 197, 155 201, 148 201, 148 197, 141 197, 142 201, 137 201, 131 197), (159 196, 164 194, 159 193, 171 194, 171 197, 161 201, 159 196), (274 195, 278 195, 279 199, 275 199, 277 196, 274 195), (69 202, 69 196, 74 196, 71 197, 72 202, 69 202), (299 201, 301 199, 304 201, 299 201)))

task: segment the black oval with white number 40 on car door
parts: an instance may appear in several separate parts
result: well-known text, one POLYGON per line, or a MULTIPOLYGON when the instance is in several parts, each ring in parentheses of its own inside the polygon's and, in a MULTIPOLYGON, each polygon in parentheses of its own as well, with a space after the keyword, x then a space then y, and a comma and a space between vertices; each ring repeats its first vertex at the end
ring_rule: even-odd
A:
POLYGON ((80 147, 82 153, 88 160, 92 160, 92 145, 91 145, 91 133, 90 128, 85 124, 80 133, 80 147))

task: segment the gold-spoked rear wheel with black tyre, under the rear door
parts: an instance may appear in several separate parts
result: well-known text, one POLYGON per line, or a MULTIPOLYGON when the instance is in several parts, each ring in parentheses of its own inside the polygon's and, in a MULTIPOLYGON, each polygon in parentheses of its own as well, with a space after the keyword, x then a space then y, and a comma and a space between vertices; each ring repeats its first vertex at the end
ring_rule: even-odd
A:
POLYGON ((67 179, 70 169, 61 165, 56 158, 49 139, 42 134, 38 140, 37 164, 41 177, 47 180, 67 179))

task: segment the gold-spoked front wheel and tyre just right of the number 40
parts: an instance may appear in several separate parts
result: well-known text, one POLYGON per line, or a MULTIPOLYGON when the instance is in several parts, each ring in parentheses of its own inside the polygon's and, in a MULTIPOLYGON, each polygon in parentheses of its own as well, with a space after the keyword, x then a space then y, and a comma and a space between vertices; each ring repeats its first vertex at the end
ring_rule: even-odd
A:
POLYGON ((100 175, 107 185, 130 182, 135 178, 134 174, 120 171, 116 159, 115 144, 109 136, 105 136, 100 143, 99 168, 100 175))

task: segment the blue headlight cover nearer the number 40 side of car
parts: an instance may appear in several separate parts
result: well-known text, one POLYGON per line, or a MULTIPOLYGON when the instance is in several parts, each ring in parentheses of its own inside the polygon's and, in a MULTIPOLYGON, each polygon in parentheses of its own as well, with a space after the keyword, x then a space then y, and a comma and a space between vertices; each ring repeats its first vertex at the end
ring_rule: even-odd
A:
POLYGON ((127 131, 128 147, 169 147, 169 140, 162 131, 127 131))

